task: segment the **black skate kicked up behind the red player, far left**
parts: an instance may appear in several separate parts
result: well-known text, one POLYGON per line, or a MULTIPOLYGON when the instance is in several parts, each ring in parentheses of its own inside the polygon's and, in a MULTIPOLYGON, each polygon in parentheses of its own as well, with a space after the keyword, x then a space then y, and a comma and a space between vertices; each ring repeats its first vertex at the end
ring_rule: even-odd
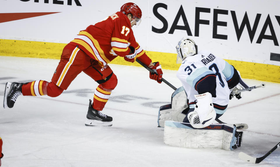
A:
POLYGON ((23 83, 17 83, 17 82, 7 82, 6 88, 4 91, 4 100, 3 100, 3 107, 4 108, 12 108, 14 107, 15 101, 17 100, 17 97, 22 94, 21 87, 23 83))

